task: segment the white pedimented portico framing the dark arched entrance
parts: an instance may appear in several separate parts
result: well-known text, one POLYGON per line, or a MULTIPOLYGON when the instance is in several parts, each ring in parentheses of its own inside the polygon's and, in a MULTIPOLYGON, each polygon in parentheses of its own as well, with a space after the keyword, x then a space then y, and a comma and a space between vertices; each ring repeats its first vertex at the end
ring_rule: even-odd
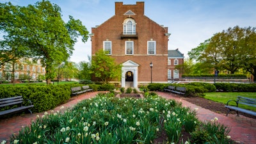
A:
POLYGON ((122 87, 138 88, 138 63, 128 60, 122 64, 122 87))

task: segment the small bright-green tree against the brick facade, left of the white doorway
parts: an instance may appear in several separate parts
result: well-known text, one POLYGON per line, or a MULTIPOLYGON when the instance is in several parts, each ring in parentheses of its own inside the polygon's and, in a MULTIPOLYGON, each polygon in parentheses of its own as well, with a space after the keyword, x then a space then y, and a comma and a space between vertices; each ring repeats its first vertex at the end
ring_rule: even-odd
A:
POLYGON ((101 49, 92 57, 92 74, 108 83, 111 79, 120 79, 122 65, 117 65, 115 59, 105 54, 101 49))

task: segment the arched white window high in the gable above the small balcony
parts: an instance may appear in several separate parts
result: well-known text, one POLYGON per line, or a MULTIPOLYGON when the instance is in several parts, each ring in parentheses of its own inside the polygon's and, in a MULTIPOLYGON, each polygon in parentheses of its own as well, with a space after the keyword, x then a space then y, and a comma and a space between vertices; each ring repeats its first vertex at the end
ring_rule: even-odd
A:
POLYGON ((132 18, 127 18, 124 20, 123 24, 124 35, 136 35, 136 22, 132 18))

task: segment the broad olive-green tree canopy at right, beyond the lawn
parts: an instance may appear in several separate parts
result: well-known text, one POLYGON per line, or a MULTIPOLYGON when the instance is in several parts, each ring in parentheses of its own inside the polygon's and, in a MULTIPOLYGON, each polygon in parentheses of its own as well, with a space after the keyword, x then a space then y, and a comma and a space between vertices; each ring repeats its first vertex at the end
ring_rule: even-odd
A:
POLYGON ((209 41, 205 40, 192 49, 189 58, 216 70, 228 70, 231 74, 239 68, 244 68, 256 77, 255 28, 235 26, 216 33, 209 41))

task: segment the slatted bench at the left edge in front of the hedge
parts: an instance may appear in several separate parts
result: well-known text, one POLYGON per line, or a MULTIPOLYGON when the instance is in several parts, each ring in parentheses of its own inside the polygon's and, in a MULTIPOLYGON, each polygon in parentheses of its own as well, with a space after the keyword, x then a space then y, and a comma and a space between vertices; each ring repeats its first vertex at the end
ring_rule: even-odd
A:
POLYGON ((17 108, 0 111, 0 117, 4 116, 4 115, 11 114, 11 113, 18 113, 20 111, 25 111, 25 110, 28 110, 32 115, 32 111, 30 110, 30 108, 33 108, 34 105, 32 105, 32 102, 30 100, 28 100, 28 101, 30 102, 29 106, 22 106, 22 104, 24 102, 22 96, 8 97, 8 98, 0 99, 0 108, 4 108, 6 106, 19 105, 19 107, 17 107, 17 108))

